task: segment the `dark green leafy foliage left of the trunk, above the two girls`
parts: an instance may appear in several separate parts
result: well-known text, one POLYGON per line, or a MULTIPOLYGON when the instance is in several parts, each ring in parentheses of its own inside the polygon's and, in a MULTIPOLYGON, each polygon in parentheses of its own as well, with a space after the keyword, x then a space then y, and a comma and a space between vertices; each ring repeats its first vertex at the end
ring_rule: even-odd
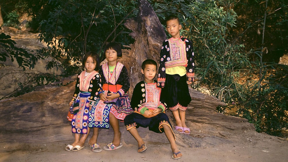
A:
MULTIPOLYGON (((107 42, 130 44, 132 38, 123 23, 136 12, 134 1, 50 1, 57 6, 47 19, 42 20, 40 40, 48 43, 45 57, 51 57, 47 69, 60 67, 65 76, 80 71, 86 51, 101 51, 107 42), (60 3, 61 2, 61 3, 60 3)), ((50 7, 50 6, 46 6, 50 7)))

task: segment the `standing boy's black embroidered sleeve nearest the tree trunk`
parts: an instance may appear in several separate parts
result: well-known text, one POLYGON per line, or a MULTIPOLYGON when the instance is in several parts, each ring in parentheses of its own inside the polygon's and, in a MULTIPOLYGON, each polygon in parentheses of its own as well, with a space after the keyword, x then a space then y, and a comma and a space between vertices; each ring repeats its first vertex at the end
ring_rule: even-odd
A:
POLYGON ((166 80, 166 69, 165 69, 165 61, 166 57, 170 55, 170 48, 168 39, 166 39, 161 47, 160 52, 160 65, 158 70, 158 78, 157 78, 157 86, 163 88, 165 86, 165 80, 166 80))

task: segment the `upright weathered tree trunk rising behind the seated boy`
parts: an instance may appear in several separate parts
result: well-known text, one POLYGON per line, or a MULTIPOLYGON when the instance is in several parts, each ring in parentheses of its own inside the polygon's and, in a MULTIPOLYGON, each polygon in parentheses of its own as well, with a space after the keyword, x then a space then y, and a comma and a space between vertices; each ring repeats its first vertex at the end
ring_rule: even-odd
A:
POLYGON ((131 62, 129 61, 130 65, 124 64, 127 69, 130 69, 130 95, 134 86, 144 79, 141 74, 142 62, 152 59, 159 63, 162 42, 166 39, 165 31, 150 3, 139 0, 138 7, 137 17, 124 24, 132 31, 130 35, 135 39, 129 51, 129 56, 132 58, 131 62))

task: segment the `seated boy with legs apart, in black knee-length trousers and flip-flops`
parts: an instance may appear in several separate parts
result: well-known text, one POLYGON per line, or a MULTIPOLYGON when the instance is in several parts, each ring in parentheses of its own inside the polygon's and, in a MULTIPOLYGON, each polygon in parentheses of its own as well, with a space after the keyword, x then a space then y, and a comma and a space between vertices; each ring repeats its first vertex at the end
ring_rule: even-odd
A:
POLYGON ((164 132, 171 145, 172 158, 179 159, 182 153, 177 148, 172 126, 165 114, 166 106, 160 102, 161 88, 158 88, 156 80, 153 80, 157 72, 157 63, 154 60, 145 60, 141 72, 145 79, 134 88, 131 107, 135 111, 124 119, 126 129, 137 140, 138 152, 144 152, 147 147, 136 128, 149 127, 149 130, 156 133, 164 132))

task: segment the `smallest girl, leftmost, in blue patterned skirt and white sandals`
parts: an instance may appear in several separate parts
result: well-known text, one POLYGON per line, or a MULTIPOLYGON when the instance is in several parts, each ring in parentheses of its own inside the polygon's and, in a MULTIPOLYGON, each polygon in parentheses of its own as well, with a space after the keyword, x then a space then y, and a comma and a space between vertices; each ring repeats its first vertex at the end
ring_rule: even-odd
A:
POLYGON ((78 151, 84 148, 84 143, 89 135, 88 127, 89 110, 95 103, 95 98, 98 96, 98 91, 101 88, 101 76, 98 73, 99 57, 94 52, 87 52, 84 55, 82 66, 86 70, 78 74, 75 92, 69 105, 68 120, 71 121, 72 133, 75 133, 75 141, 67 145, 65 150, 78 151), (73 109, 79 108, 75 113, 73 109), (75 113, 75 114, 74 114, 75 113), (82 137, 80 138, 80 135, 82 137))

